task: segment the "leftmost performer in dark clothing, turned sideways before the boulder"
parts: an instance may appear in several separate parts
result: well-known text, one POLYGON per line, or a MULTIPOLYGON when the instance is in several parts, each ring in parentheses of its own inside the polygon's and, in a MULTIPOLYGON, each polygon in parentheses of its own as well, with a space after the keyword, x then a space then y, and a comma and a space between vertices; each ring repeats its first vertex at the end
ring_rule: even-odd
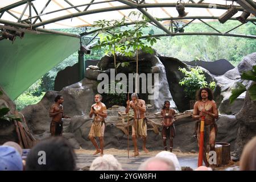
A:
POLYGON ((63 133, 63 121, 62 118, 70 118, 68 115, 63 114, 63 102, 64 99, 61 95, 57 95, 55 98, 55 104, 49 109, 49 117, 52 117, 50 132, 51 136, 62 136, 63 133))

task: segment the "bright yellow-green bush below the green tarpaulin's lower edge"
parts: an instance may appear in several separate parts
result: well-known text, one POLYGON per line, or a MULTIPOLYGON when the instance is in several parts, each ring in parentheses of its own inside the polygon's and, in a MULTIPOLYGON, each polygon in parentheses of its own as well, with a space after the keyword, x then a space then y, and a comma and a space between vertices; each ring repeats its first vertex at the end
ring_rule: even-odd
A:
POLYGON ((42 92, 40 96, 33 96, 30 93, 23 93, 21 94, 16 100, 14 101, 17 107, 17 110, 20 111, 24 109, 24 107, 32 104, 37 104, 40 100, 42 100, 45 92, 42 92))

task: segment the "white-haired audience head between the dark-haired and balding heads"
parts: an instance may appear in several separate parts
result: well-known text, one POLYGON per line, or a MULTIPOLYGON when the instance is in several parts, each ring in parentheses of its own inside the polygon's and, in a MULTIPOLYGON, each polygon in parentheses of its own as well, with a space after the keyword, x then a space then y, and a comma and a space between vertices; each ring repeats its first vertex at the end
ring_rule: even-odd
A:
POLYGON ((122 166, 113 155, 105 154, 93 160, 90 171, 122 171, 122 166))

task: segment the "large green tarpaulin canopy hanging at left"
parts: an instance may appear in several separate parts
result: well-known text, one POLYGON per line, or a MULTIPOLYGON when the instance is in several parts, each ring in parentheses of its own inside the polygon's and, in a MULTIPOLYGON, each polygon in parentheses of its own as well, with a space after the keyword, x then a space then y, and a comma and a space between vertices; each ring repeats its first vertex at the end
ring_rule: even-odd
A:
POLYGON ((28 34, 14 43, 0 41, 0 86, 15 100, 36 80, 80 47, 80 39, 53 34, 28 34))

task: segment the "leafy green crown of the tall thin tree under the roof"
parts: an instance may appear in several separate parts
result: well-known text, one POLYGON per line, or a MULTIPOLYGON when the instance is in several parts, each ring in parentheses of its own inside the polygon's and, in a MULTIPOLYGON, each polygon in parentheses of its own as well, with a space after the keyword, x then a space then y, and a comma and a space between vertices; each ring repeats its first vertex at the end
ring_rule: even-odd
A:
MULTIPOLYGON (((115 52, 121 52, 125 56, 133 56, 135 52, 139 49, 142 49, 144 52, 153 53, 152 46, 156 43, 156 40, 159 38, 154 38, 148 34, 148 38, 145 42, 142 38, 143 28, 147 28, 148 19, 146 16, 142 15, 136 11, 131 11, 129 18, 133 18, 135 25, 130 26, 131 28, 122 30, 119 28, 122 24, 126 22, 125 17, 121 21, 117 20, 98 20, 94 22, 94 26, 106 28, 113 27, 108 31, 101 31, 100 40, 98 44, 94 46, 94 49, 105 48, 105 54, 112 54, 115 57, 115 52), (142 20, 139 20, 142 18, 142 20), (148 46, 150 44, 151 46, 148 46)), ((151 31, 152 32, 152 31, 151 31)))

